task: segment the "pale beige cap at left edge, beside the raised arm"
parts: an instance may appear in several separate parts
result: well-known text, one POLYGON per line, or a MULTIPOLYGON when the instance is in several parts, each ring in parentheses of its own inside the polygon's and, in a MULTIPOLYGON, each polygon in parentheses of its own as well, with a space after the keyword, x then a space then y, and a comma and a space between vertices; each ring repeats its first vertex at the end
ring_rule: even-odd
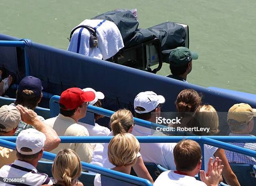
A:
POLYGON ((20 123, 20 112, 12 105, 4 105, 0 108, 0 131, 9 132, 20 123))

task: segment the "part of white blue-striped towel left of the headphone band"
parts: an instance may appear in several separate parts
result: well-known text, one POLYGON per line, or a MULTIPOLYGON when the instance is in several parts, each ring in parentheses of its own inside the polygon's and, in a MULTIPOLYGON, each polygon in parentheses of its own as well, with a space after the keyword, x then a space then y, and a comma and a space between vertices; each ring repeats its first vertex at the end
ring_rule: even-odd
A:
POLYGON ((98 47, 90 48, 89 39, 91 34, 86 28, 78 28, 77 30, 74 31, 67 50, 71 52, 77 52, 78 35, 81 29, 83 30, 81 33, 80 47, 79 47, 78 53, 101 60, 102 54, 100 52, 100 48, 98 47))

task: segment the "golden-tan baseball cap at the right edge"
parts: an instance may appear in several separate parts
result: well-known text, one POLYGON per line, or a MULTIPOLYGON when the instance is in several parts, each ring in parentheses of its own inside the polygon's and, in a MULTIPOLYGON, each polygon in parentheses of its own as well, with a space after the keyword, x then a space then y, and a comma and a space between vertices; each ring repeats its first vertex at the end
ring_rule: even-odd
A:
POLYGON ((246 103, 234 104, 228 110, 228 120, 233 119, 240 124, 248 123, 253 117, 256 117, 256 109, 246 103))

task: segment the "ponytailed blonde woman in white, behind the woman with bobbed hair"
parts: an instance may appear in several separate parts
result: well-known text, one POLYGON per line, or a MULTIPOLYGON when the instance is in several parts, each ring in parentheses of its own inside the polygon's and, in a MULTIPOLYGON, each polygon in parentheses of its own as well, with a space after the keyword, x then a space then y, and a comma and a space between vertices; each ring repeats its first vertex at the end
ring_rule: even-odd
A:
MULTIPOLYGON (((131 133, 135 122, 131 111, 120 109, 110 117, 110 128, 112 131, 108 136, 116 136, 117 134, 131 133)), ((141 154, 137 154, 137 161, 133 165, 136 174, 144 179, 148 179, 153 183, 153 179, 148 173, 146 166, 143 163, 141 154)), ((115 167, 108 159, 108 144, 97 144, 92 155, 91 164, 112 169, 115 167)))

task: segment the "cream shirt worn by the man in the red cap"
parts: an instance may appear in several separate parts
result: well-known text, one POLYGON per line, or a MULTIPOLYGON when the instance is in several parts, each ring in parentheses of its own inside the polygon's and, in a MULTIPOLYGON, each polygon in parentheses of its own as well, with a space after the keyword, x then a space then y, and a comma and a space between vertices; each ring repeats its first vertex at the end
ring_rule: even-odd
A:
MULTIPOLYGON (((87 129, 77 124, 71 117, 59 114, 57 117, 46 119, 44 123, 51 126, 58 136, 89 136, 87 129)), ((57 154, 61 149, 72 149, 80 157, 81 161, 90 163, 92 159, 92 145, 90 143, 59 144, 56 149, 50 151, 57 154)))

